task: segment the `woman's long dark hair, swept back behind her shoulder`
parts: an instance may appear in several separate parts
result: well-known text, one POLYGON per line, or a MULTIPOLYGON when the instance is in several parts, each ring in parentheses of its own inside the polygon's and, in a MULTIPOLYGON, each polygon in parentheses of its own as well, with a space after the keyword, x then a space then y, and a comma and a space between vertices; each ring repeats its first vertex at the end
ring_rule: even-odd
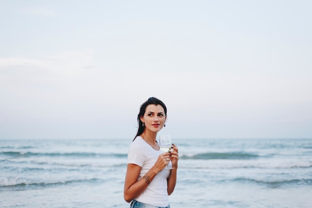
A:
POLYGON ((143 122, 141 121, 141 117, 144 116, 146 108, 148 107, 148 105, 151 105, 151 104, 152 105, 153 104, 154 105, 161 105, 161 107, 164 110, 164 115, 167 116, 167 108, 166 108, 165 104, 161 100, 157 99, 156 97, 150 97, 147 101, 145 101, 141 105, 140 112, 138 114, 138 133, 135 136, 134 140, 137 138, 137 136, 140 136, 144 132, 145 127, 142 126, 143 122))

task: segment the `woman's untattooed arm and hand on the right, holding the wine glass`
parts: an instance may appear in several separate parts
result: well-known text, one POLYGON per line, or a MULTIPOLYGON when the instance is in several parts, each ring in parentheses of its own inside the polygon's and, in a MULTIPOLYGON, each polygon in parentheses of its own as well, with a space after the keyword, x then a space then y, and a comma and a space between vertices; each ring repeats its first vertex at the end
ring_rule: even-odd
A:
POLYGON ((179 160, 178 148, 176 147, 176 145, 172 144, 172 146, 173 146, 173 150, 171 150, 170 161, 171 161, 173 169, 171 169, 170 176, 167 179, 167 183, 168 183, 167 192, 168 192, 168 195, 171 195, 173 193, 173 191, 174 191, 174 188, 175 188, 176 173, 177 173, 177 162, 179 160))

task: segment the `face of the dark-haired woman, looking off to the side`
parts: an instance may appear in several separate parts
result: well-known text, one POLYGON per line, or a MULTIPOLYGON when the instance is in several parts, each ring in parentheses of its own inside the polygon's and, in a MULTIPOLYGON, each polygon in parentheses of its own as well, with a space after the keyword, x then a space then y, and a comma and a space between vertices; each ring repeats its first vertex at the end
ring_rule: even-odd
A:
POLYGON ((144 131, 158 132, 162 129, 166 116, 161 105, 148 105, 145 114, 141 117, 141 121, 145 123, 144 131))

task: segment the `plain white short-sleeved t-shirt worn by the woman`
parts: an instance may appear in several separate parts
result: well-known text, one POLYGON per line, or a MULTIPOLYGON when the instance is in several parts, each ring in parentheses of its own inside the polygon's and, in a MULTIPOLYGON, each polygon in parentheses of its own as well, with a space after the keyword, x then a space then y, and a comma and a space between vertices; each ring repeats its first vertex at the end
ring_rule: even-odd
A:
MULTIPOLYGON (((163 154, 163 152, 160 150, 156 151, 140 136, 131 143, 128 152, 128 164, 136 164, 142 167, 138 180, 145 176, 155 165, 160 154, 163 154)), ((169 166, 171 166, 171 162, 169 166)), ((136 200, 157 207, 167 207, 169 205, 167 193, 167 178, 169 174, 170 169, 160 171, 136 200)))

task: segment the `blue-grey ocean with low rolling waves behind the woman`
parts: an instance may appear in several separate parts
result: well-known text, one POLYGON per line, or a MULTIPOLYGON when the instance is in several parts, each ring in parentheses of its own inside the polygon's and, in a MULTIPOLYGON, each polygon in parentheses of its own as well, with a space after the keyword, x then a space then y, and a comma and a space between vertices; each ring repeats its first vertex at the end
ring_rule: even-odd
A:
MULTIPOLYGON (((312 207, 312 139, 171 138, 171 208, 312 207)), ((129 208, 131 141, 0 140, 0 207, 129 208)))

